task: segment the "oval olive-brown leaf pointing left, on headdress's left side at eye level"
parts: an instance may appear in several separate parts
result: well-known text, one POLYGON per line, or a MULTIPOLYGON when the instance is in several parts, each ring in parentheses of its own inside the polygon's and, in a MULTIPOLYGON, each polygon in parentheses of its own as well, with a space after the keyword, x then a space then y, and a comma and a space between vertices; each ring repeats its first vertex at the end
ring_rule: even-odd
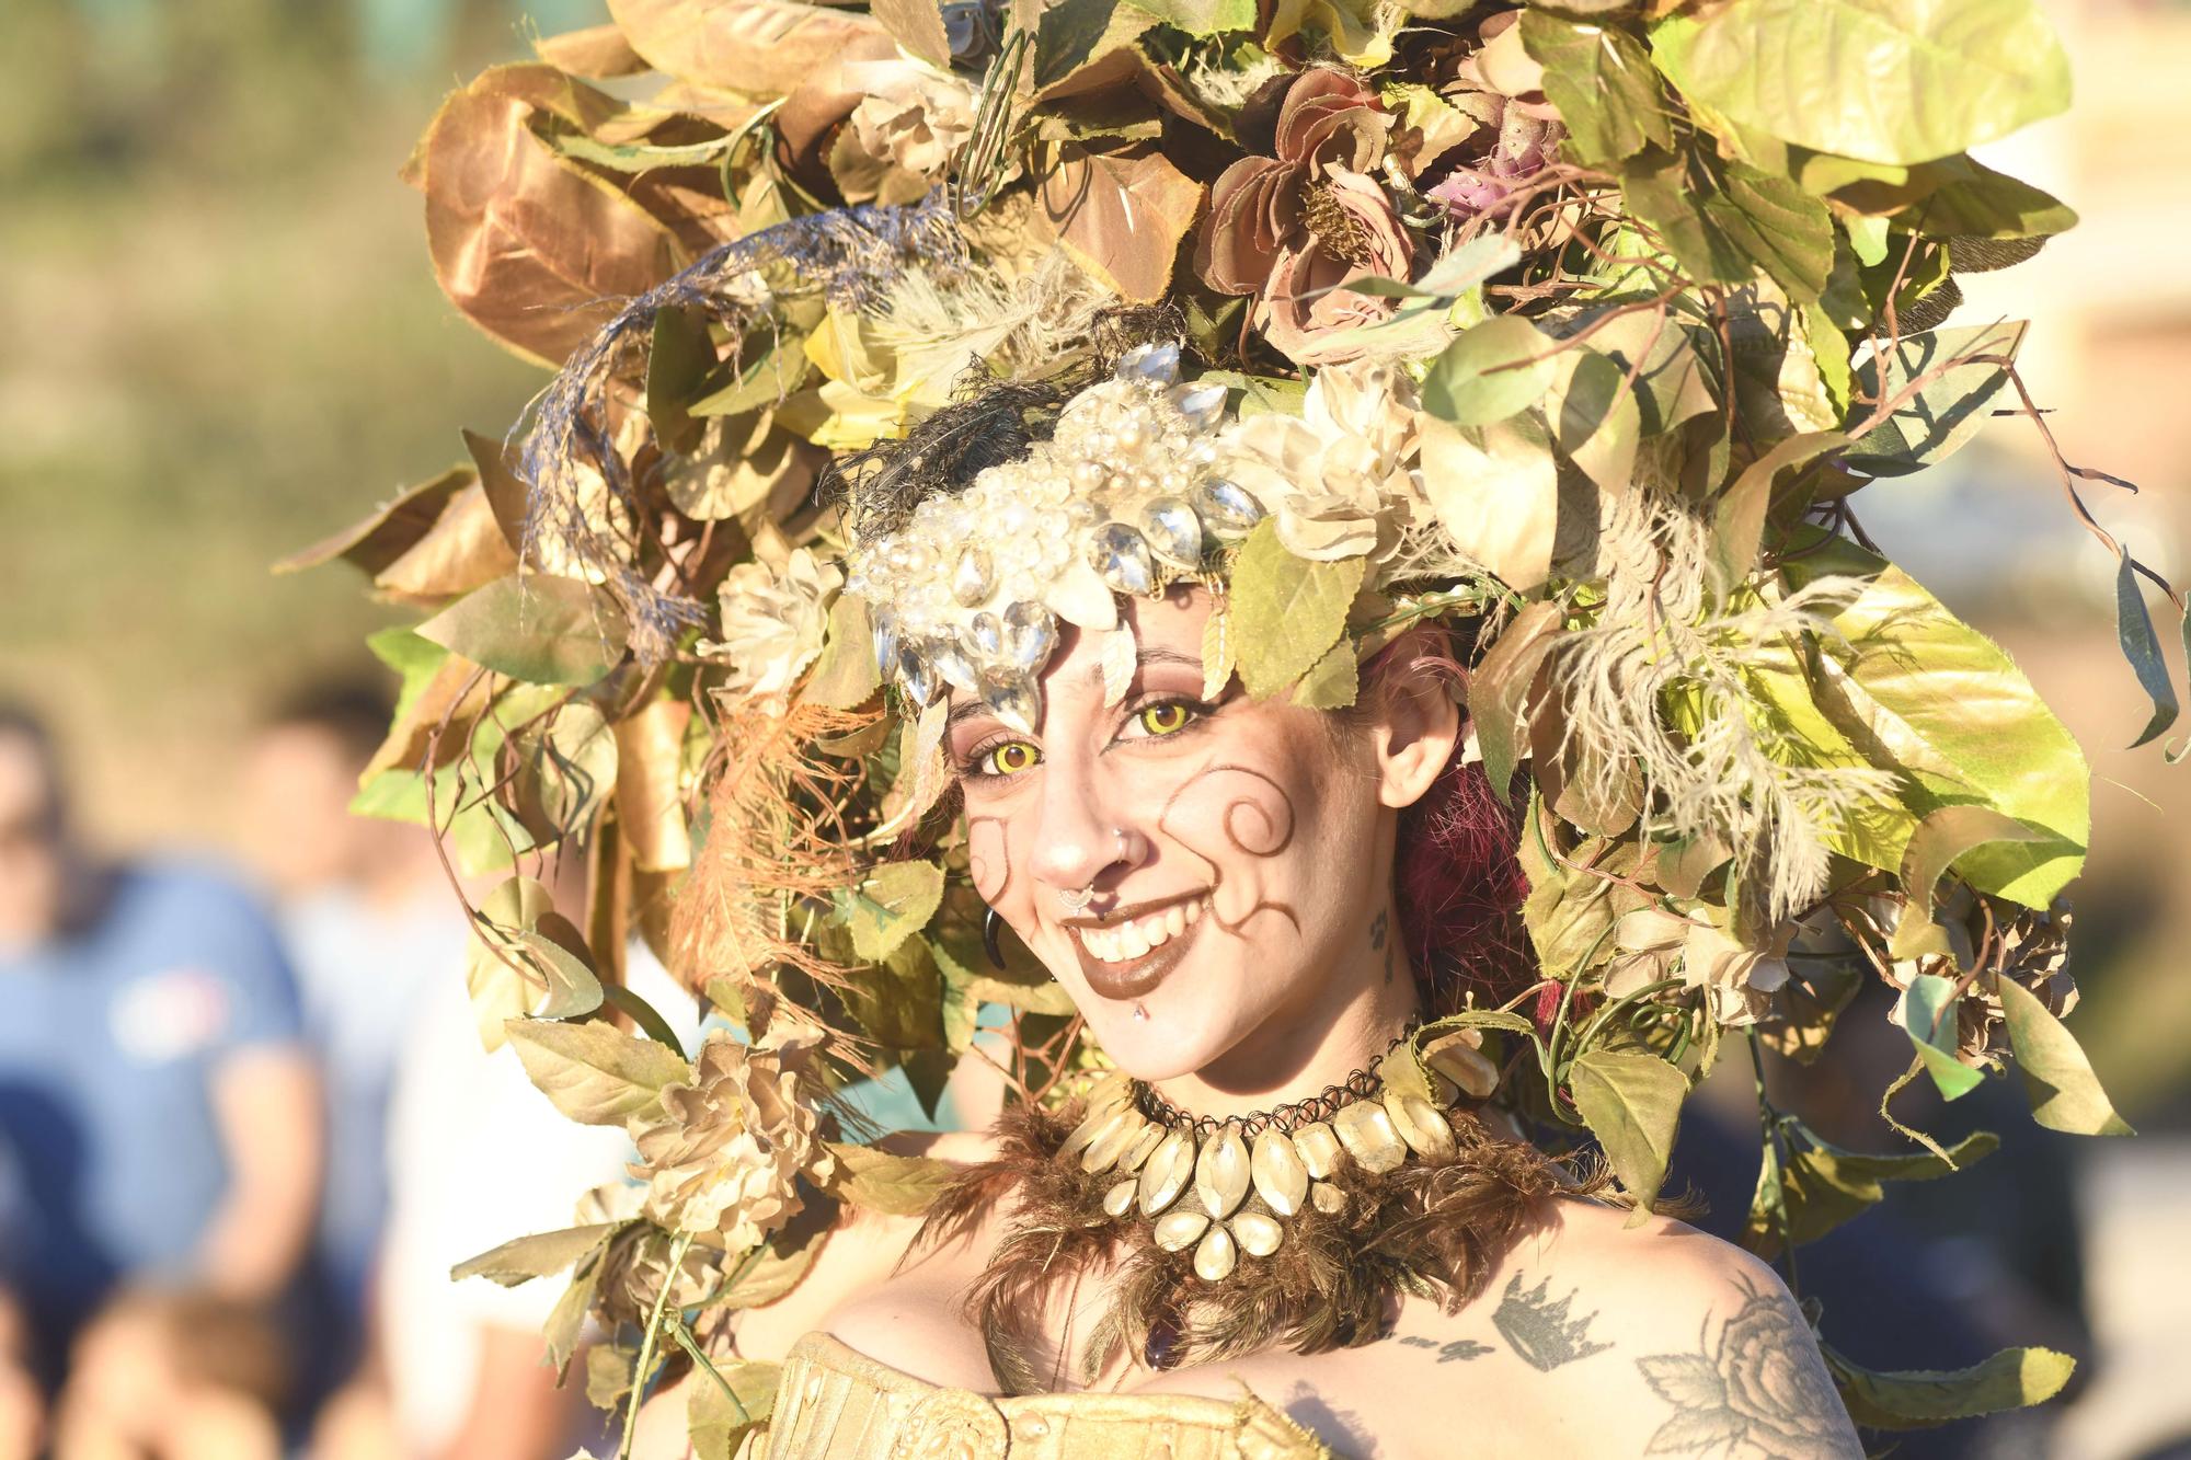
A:
POLYGON ((530 684, 592 684, 624 658, 624 612, 576 579, 495 579, 418 625, 473 664, 530 684))

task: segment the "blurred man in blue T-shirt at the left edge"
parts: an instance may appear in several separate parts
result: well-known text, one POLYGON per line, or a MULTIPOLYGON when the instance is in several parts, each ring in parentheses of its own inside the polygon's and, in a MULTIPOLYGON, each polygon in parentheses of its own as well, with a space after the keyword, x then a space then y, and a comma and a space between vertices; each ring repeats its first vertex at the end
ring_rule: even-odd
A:
POLYGON ((46 726, 0 704, 0 1287, 50 1385, 123 1280, 269 1300, 305 1252, 320 1083, 274 929, 228 877, 103 859, 46 726))

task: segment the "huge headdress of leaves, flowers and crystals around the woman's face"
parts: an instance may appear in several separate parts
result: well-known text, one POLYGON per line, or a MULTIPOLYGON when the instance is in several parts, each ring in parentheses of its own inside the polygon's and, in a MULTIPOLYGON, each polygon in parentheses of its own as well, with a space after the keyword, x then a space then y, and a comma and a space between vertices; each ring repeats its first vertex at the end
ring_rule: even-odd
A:
MULTIPOLYGON (((1030 1103, 1098 1059, 979 951, 936 706, 1030 723, 1058 623, 1115 631, 1168 581, 1218 590, 1218 686, 1306 706, 1411 623, 1479 625, 1536 969, 1422 1039, 1466 1035, 1639 1204, 1729 1037, 1832 1059, 1865 980, 1948 1098, 2014 1059, 2040 1122, 2125 1129, 2060 1024, 2084 758, 1851 506, 1992 414, 2053 441, 2022 327, 1948 324, 1959 274, 2075 221, 1968 156, 2066 103, 2031 0, 1983 33, 1917 0, 609 9, 454 94, 408 169, 451 300, 554 379, 511 445, 467 436, 302 555, 434 609, 375 640, 405 693, 362 809, 513 872, 475 912, 482 1033, 675 1195, 473 1265, 570 1267, 552 1348, 589 1302, 631 1339, 603 1392, 798 1280, 798 1193, 933 1195, 830 1109, 850 1076, 933 1094, 984 1006, 1030 1103), (936 436, 944 491, 861 456, 999 392, 1008 449, 936 436), (530 875, 565 848, 583 925, 530 875), (631 934, 754 1043, 688 1065, 620 986, 631 934)), ((2090 480, 2064 467, 2145 743, 2176 715, 2160 579, 2090 480)), ((1981 1153, 1762 1114, 1762 1252, 1981 1153)), ((2068 1372, 1834 1364, 1869 1425, 2068 1372)), ((765 1410, 762 1368, 701 1385, 710 1434, 765 1410)))

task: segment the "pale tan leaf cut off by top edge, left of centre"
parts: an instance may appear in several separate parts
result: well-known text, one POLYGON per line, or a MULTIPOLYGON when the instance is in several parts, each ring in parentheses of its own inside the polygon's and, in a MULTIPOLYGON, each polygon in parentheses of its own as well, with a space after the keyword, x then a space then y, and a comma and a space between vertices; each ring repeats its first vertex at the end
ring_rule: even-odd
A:
POLYGON ((655 70, 765 101, 854 50, 896 55, 872 15, 798 0, 609 0, 609 15, 655 70))

